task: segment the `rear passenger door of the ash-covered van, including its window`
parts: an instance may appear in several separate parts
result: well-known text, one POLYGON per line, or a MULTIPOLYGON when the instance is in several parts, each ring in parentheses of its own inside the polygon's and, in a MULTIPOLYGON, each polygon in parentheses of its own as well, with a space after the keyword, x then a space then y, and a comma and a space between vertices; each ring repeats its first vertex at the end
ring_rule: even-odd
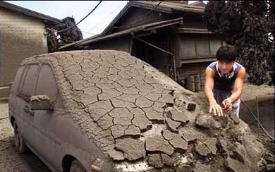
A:
POLYGON ((35 116, 30 111, 30 97, 35 94, 38 70, 38 64, 27 65, 23 78, 20 80, 16 101, 14 101, 16 104, 11 104, 11 106, 16 107, 16 123, 20 128, 24 141, 30 148, 35 144, 33 137, 36 135, 35 132, 37 132, 34 125, 35 116))

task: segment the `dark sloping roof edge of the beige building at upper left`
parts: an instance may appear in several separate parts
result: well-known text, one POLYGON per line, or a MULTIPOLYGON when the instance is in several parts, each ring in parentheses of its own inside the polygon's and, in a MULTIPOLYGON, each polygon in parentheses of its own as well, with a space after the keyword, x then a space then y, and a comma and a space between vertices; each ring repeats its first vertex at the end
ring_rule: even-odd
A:
POLYGON ((36 11, 32 11, 30 9, 27 9, 27 8, 23 8, 21 6, 16 6, 14 4, 10 4, 8 2, 5 2, 5 1, 0 1, 0 6, 3 7, 3 8, 7 8, 11 11, 16 11, 18 13, 22 13, 26 16, 31 16, 31 17, 34 17, 34 18, 39 18, 39 19, 42 19, 42 20, 47 20, 47 21, 50 21, 52 23, 63 23, 62 20, 59 20, 57 18, 53 18, 51 16, 47 16, 47 15, 44 15, 42 13, 38 13, 36 11))

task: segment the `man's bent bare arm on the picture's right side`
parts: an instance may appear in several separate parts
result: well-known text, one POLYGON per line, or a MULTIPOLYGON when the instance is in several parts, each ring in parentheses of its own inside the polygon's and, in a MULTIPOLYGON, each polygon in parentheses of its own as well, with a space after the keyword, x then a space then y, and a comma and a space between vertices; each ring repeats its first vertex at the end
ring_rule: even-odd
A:
POLYGON ((234 102, 236 102, 236 100, 240 98, 240 95, 242 94, 242 90, 243 90, 243 82, 245 80, 245 74, 246 74, 245 68, 242 68, 236 77, 231 96, 223 101, 224 105, 226 105, 226 101, 229 104, 233 104, 234 102))

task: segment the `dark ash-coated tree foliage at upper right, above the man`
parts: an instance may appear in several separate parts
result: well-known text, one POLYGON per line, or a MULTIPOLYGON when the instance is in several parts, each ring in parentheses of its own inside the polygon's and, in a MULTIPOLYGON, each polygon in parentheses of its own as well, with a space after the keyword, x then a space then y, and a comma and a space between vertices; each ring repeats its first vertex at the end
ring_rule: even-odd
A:
POLYGON ((274 1, 209 1, 203 20, 226 44, 236 45, 250 82, 274 84, 274 1))

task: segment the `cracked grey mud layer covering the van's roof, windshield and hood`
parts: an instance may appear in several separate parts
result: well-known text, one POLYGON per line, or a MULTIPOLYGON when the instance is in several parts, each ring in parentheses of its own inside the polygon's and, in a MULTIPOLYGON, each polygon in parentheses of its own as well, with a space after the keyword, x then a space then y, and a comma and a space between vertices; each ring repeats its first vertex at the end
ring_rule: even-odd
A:
POLYGON ((204 113, 193 92, 125 52, 67 51, 24 63, 33 61, 51 63, 71 118, 114 166, 264 168, 264 147, 243 121, 204 113))

